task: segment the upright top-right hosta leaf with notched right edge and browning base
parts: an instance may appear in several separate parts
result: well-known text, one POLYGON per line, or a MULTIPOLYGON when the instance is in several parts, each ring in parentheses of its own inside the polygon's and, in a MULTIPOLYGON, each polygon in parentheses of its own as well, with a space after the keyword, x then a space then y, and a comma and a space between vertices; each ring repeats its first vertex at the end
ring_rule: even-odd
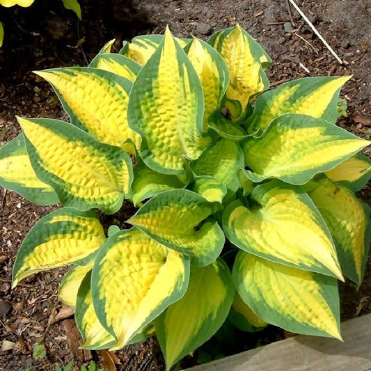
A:
POLYGON ((212 35, 208 43, 227 63, 230 84, 226 92, 226 106, 232 120, 239 120, 254 95, 269 87, 262 65, 269 65, 271 59, 239 25, 212 35))

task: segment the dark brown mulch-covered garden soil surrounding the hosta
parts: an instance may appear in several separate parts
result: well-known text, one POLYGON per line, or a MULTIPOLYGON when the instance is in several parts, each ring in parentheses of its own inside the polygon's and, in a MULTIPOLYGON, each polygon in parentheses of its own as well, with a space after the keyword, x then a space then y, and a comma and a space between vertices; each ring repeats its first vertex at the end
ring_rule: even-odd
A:
MULTIPOLYGON (((0 145, 19 133, 16 115, 67 120, 52 88, 33 70, 87 65, 102 45, 143 33, 163 33, 166 25, 177 36, 206 40, 214 31, 240 24, 267 50, 274 61, 268 70, 271 86, 307 76, 349 75, 342 90, 348 117, 340 125, 365 139, 371 134, 371 1, 317 0, 297 3, 342 60, 329 49, 285 0, 81 0, 82 20, 61 1, 35 0, 31 8, 1 8, 5 29, 0 49, 0 145)), ((369 150, 370 151, 370 150, 369 150)), ((370 152, 366 152, 370 156, 370 152)), ((370 204, 371 189, 359 196, 370 204)), ((54 370, 74 359, 73 370, 90 360, 107 370, 164 370, 154 338, 120 352, 82 352, 72 313, 58 301, 57 289, 65 269, 26 278, 11 290, 15 254, 29 229, 55 207, 39 207, 11 191, 0 190, 0 370, 54 370), (44 347, 45 354, 33 352, 44 347)), ((123 226, 132 208, 126 205, 116 220, 123 226), (120 219, 120 220, 119 220, 120 219)), ((340 284, 342 320, 371 312, 371 265, 356 290, 340 284)), ((227 331, 227 330, 226 330, 227 331)), ((228 332, 228 331, 227 331, 228 332)), ((283 338, 273 326, 260 335, 239 333, 223 345, 211 340, 182 367, 283 338), (217 349, 217 351, 215 351, 217 349)), ((181 336, 181 334, 180 334, 181 336)), ((287 334, 286 334, 287 336, 287 334)), ((228 336, 224 336, 228 338, 228 336)))

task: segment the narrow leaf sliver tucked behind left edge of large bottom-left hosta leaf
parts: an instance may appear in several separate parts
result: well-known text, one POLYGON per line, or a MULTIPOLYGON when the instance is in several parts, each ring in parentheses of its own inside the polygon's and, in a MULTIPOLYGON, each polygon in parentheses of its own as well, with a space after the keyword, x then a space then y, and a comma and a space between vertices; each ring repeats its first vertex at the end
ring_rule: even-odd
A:
POLYGON ((74 315, 83 339, 81 347, 84 349, 106 349, 116 344, 116 338, 104 329, 95 313, 90 281, 91 271, 88 271, 79 287, 74 315))

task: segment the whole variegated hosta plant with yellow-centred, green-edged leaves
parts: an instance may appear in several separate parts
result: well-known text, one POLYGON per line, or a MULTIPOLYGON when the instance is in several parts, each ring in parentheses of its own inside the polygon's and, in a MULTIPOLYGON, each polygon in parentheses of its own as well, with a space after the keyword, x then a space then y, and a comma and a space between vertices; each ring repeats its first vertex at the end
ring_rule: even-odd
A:
POLYGON ((70 123, 18 118, 0 150, 3 187, 63 205, 24 239, 13 287, 72 265, 59 294, 83 347, 155 334, 167 368, 225 321, 340 339, 337 281, 360 285, 370 237, 354 196, 370 142, 336 126, 349 77, 264 93, 271 60, 240 26, 111 45, 88 67, 36 72, 70 123), (98 215, 124 202, 132 228, 106 235, 98 215))

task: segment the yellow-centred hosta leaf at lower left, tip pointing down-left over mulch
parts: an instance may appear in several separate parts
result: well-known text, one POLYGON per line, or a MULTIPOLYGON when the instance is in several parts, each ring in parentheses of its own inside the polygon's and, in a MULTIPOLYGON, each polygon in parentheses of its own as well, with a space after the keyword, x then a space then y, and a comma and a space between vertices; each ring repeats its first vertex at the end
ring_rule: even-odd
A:
POLYGON ((26 235, 13 267, 13 287, 45 269, 77 262, 100 248, 106 237, 92 210, 63 207, 44 216, 26 235))

